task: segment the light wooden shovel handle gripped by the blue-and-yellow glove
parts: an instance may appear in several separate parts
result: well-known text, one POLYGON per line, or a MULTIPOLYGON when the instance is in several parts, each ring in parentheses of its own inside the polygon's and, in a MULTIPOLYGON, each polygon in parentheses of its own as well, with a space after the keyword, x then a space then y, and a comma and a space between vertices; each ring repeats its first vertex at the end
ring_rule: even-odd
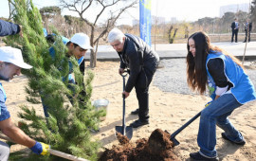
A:
MULTIPOLYGON (((7 135, 5 134, 0 134, 0 138, 2 139, 5 139, 7 141, 10 141, 10 142, 13 142, 13 140, 11 140, 7 135)), ((52 150, 50 149, 49 150, 49 153, 50 154, 53 154, 53 155, 56 155, 56 156, 59 156, 59 157, 62 157, 62 158, 65 158, 65 159, 68 159, 68 160, 74 160, 74 161, 89 161, 89 160, 86 160, 86 159, 83 159, 81 157, 78 157, 78 156, 74 156, 74 155, 71 155, 71 154, 68 154, 68 153, 64 153, 64 152, 60 152, 60 151, 56 151, 56 150, 52 150)))

